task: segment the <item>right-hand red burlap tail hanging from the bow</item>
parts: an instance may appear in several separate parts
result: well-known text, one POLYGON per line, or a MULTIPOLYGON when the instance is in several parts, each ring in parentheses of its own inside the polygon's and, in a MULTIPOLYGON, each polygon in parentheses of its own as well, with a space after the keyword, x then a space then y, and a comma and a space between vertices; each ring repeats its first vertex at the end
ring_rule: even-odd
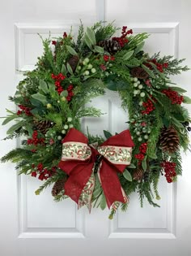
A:
POLYGON ((100 163, 98 176, 104 190, 108 208, 112 206, 114 210, 117 210, 117 207, 119 206, 117 202, 129 202, 128 197, 125 195, 125 191, 121 187, 121 183, 117 176, 117 170, 104 160, 100 163))

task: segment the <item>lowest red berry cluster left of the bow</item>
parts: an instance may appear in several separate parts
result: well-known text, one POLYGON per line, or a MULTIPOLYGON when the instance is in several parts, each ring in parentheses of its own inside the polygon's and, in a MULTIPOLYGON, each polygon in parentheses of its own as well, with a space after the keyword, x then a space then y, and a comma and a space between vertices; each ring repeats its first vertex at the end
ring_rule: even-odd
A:
POLYGON ((36 171, 32 171, 31 176, 36 177, 37 174, 39 174, 39 180, 47 180, 49 177, 53 176, 56 171, 56 167, 52 167, 52 169, 49 171, 47 168, 43 167, 42 163, 38 163, 36 167, 34 164, 32 164, 32 168, 36 169, 36 171))

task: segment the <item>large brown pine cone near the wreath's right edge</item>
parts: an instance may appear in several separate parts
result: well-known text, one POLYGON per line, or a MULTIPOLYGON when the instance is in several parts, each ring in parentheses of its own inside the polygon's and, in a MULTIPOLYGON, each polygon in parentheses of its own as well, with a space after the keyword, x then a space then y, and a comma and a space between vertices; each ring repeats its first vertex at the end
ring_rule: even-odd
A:
POLYGON ((179 147, 179 137, 176 129, 172 126, 163 127, 160 132, 159 143, 163 151, 174 153, 179 147))

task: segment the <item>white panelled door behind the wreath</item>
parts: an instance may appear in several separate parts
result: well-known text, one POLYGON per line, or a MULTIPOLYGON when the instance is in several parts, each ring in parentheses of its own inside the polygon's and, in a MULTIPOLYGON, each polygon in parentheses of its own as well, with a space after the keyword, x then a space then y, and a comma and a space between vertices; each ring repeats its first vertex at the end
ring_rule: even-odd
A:
MULTIPOLYGON (((42 47, 37 33, 48 36, 62 34, 79 19, 83 24, 97 20, 116 20, 117 26, 127 25, 134 33, 147 32, 145 50, 151 54, 161 50, 186 58, 191 67, 190 24, 191 2, 182 0, 6 0, 0 6, 0 116, 20 79, 17 70, 31 69, 42 47)), ((176 77, 176 81, 191 94, 191 72, 176 77)), ((125 128, 121 117, 120 99, 113 93, 94 101, 105 115, 96 121, 84 120, 92 133, 103 129, 121 132, 125 128), (107 104, 105 104, 107 102, 107 104), (98 123, 99 122, 99 123, 98 123), (95 124, 99 124, 96 125, 95 124), (96 127, 96 128, 95 128, 96 127), (99 128, 97 128, 99 127, 99 128)), ((190 111, 190 107, 189 107, 190 111)), ((6 128, 1 126, 1 138, 6 128)), ((1 156, 19 141, 1 141, 1 156)), ((138 194, 130 197, 129 210, 118 212, 108 220, 108 210, 77 210, 70 200, 53 202, 50 189, 40 196, 34 191, 40 185, 35 179, 17 177, 14 165, 1 165, 0 176, 0 255, 191 255, 190 154, 183 154, 183 176, 176 184, 160 180, 160 208, 145 202, 140 208, 138 194)))

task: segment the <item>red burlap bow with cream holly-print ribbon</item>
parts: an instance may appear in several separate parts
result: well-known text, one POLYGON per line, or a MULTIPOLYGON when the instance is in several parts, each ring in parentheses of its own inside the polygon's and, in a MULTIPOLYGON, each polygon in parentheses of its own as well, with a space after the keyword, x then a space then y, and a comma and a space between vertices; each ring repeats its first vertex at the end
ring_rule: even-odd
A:
POLYGON ((67 196, 71 197, 79 206, 91 205, 91 195, 95 184, 93 171, 95 171, 98 157, 101 156, 96 171, 98 171, 108 208, 114 202, 127 201, 117 171, 123 172, 125 167, 130 164, 134 142, 129 130, 108 138, 102 145, 95 148, 93 145, 88 145, 88 139, 82 132, 70 128, 62 143, 62 160, 59 167, 69 176, 65 184, 67 196), (87 188, 88 186, 89 188, 87 188), (86 189, 84 190, 84 188, 86 189), (90 196, 88 196, 87 202, 79 203, 80 197, 82 201, 84 191, 90 196))

